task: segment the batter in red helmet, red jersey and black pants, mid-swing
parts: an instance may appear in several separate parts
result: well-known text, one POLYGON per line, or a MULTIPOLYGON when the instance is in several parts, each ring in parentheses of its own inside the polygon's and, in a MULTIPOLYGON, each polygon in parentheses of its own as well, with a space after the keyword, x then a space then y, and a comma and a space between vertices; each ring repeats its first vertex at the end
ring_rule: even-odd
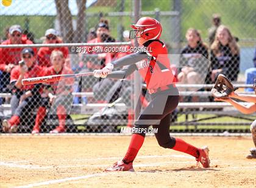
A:
POLYGON ((147 50, 133 53, 107 64, 103 69, 94 70, 96 78, 124 79, 135 70, 138 70, 152 101, 140 112, 132 128, 132 139, 123 160, 116 162, 105 171, 133 171, 133 160, 144 142, 149 126, 157 129, 155 137, 161 147, 188 153, 196 158, 203 167, 210 167, 208 147, 202 149, 186 143, 180 138, 169 135, 170 114, 179 103, 179 91, 175 87, 176 81, 172 74, 165 44, 159 40, 162 26, 154 18, 140 18, 137 24, 132 25, 130 38, 137 38, 138 44, 147 50), (129 65, 126 69, 112 72, 114 67, 129 65))

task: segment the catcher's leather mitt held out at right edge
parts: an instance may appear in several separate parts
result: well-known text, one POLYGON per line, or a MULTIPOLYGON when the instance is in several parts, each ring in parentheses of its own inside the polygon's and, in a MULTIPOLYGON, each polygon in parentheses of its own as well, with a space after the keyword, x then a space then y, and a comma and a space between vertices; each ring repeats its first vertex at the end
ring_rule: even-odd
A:
POLYGON ((238 88, 233 87, 229 78, 227 78, 225 75, 219 74, 211 93, 215 98, 227 98, 230 93, 236 89, 238 88))

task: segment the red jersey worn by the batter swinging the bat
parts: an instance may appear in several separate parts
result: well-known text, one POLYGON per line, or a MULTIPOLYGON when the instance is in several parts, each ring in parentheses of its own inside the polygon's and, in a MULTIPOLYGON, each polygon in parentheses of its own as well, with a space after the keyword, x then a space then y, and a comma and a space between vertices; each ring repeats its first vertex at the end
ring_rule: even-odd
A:
POLYGON ((152 40, 143 45, 148 47, 149 58, 137 62, 136 66, 144 82, 146 82, 147 88, 157 89, 176 82, 165 44, 159 40, 152 40))

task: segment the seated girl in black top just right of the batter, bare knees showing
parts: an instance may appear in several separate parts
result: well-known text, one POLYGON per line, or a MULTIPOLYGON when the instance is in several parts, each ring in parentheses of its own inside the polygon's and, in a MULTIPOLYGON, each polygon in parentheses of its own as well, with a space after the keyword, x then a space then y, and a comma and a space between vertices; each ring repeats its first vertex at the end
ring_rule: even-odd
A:
POLYGON ((208 47, 196 29, 188 29, 186 38, 188 44, 181 52, 182 69, 178 80, 181 84, 204 84, 204 74, 208 68, 208 47))

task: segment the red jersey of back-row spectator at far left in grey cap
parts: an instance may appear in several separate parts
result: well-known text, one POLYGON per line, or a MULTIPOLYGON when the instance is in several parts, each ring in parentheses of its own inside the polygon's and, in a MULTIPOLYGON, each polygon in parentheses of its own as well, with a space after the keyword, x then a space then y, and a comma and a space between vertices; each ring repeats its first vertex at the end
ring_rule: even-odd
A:
MULTIPOLYGON (((2 42, 2 44, 12 44, 10 39, 2 42)), ((21 39, 21 44, 33 44, 29 39, 21 39)), ((21 48, 15 49, 1 49, 0 48, 0 70, 4 70, 5 65, 7 64, 16 64, 21 60, 21 48)), ((37 54, 37 49, 34 49, 34 53, 37 54)))

